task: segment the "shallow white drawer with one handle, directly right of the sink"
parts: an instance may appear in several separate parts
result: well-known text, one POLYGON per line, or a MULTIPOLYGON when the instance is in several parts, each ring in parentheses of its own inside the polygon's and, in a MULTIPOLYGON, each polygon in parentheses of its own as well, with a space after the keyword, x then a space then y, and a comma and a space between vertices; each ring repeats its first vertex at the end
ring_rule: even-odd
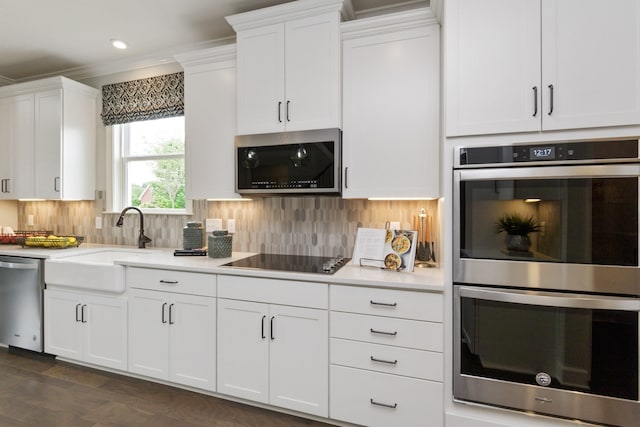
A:
POLYGON ((127 267, 127 287, 182 294, 216 296, 214 274, 127 267))

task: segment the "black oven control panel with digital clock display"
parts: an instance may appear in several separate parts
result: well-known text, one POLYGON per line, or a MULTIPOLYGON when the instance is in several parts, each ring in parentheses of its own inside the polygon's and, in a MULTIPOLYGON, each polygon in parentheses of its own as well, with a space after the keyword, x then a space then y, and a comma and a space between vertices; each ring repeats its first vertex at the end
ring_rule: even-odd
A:
POLYGON ((637 161, 638 140, 458 147, 456 166, 637 161))

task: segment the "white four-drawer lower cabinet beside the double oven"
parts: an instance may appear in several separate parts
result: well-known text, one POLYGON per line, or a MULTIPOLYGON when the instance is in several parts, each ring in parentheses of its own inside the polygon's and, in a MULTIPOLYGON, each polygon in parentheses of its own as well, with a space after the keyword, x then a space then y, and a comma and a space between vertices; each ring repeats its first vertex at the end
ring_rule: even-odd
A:
POLYGON ((332 285, 330 301, 330 417, 444 425, 442 295, 332 285))

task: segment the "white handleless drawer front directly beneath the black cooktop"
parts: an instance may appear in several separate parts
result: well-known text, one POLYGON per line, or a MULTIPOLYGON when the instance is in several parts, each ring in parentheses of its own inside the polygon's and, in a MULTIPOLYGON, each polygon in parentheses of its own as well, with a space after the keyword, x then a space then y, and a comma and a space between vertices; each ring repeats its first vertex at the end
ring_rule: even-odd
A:
POLYGON ((218 276, 218 296, 220 298, 296 305, 323 310, 329 308, 328 287, 326 283, 218 276))

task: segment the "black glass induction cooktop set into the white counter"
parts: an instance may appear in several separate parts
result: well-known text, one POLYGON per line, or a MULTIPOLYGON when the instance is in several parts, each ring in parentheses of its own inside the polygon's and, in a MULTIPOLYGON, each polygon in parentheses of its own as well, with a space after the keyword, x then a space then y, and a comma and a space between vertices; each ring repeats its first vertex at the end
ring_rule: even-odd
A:
POLYGON ((349 262, 349 258, 344 258, 341 255, 336 257, 321 257, 308 255, 258 254, 223 264, 223 267, 254 268, 260 270, 277 270, 296 273, 333 274, 347 262, 349 262))

